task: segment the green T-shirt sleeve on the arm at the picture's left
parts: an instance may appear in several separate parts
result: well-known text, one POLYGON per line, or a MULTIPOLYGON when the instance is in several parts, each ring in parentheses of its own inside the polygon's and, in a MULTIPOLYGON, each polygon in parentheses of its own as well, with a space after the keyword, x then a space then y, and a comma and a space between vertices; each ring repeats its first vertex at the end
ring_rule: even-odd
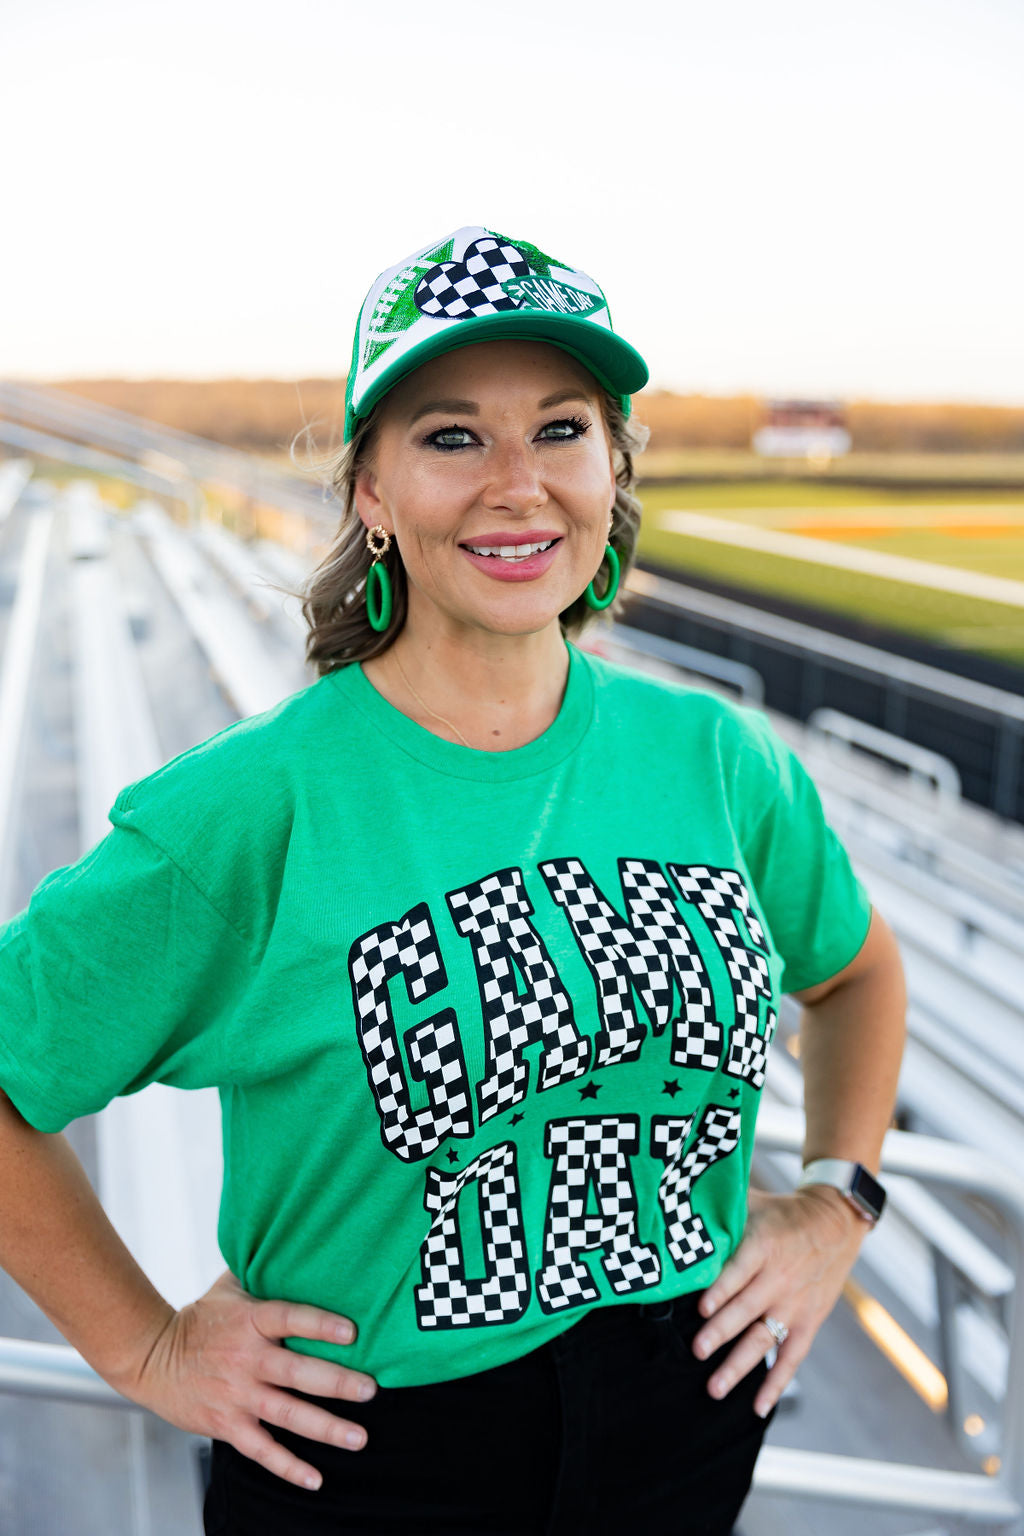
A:
POLYGON ((250 969, 189 876, 114 826, 0 926, 0 1087, 52 1132, 147 1083, 220 1086, 250 969))

